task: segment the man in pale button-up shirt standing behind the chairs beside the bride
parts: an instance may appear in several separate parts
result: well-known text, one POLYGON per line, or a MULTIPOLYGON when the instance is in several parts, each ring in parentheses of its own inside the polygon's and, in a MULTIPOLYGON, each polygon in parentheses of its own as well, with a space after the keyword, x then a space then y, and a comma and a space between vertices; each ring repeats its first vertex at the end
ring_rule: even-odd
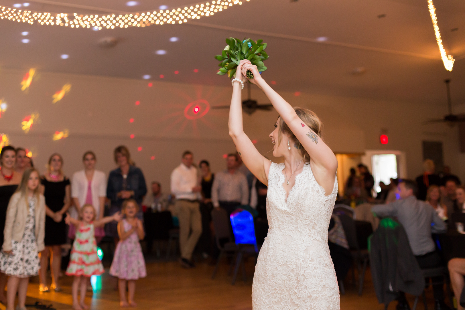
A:
POLYGON ((226 158, 226 170, 215 175, 212 202, 215 208, 223 208, 228 216, 241 204, 249 204, 249 185, 246 176, 237 169, 236 154, 226 158))

